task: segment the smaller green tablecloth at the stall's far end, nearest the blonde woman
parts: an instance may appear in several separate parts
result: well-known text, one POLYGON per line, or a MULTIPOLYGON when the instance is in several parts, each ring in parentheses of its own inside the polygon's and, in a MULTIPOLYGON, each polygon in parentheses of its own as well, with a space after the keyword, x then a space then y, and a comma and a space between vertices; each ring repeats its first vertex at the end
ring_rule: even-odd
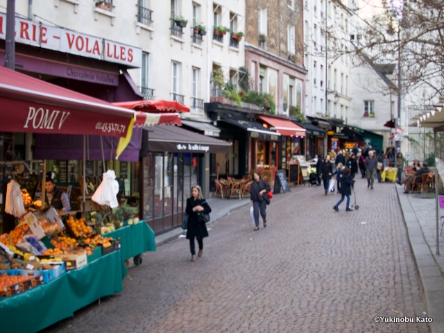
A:
POLYGON ((147 251, 155 251, 154 232, 145 221, 139 221, 135 225, 127 225, 103 236, 114 239, 120 237, 123 260, 135 255, 142 255, 147 251))

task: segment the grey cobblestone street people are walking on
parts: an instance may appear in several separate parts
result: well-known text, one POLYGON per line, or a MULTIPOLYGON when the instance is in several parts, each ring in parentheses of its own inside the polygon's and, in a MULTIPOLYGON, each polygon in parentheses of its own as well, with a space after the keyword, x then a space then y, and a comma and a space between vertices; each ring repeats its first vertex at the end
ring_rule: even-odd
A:
POLYGON ((210 225, 196 262, 185 238, 160 246, 121 295, 44 332, 429 332, 373 321, 425 307, 395 185, 356 188, 359 210, 334 212, 339 195, 291 187, 258 232, 242 207, 210 225))

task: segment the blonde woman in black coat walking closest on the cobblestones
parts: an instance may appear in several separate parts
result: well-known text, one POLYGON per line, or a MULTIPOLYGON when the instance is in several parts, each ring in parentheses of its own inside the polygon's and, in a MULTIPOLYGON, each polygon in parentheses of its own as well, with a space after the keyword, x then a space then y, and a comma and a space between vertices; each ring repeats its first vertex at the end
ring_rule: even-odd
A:
POLYGON ((203 253, 203 238, 208 237, 207 226, 205 221, 199 221, 198 212, 205 214, 211 213, 211 208, 202 196, 202 189, 199 185, 191 187, 191 198, 187 198, 187 208, 185 212, 188 214, 187 223, 187 239, 189 239, 189 250, 191 251, 191 262, 196 260, 196 251, 194 250, 194 238, 199 244, 198 256, 203 253))

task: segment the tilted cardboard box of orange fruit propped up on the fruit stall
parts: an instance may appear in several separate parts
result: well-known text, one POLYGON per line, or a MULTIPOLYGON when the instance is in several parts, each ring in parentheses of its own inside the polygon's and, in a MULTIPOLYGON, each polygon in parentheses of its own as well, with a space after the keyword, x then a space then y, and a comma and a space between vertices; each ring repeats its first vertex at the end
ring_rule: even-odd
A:
POLYGON ((53 207, 29 212, 24 216, 24 220, 38 239, 44 238, 46 234, 53 234, 65 229, 65 225, 53 207))

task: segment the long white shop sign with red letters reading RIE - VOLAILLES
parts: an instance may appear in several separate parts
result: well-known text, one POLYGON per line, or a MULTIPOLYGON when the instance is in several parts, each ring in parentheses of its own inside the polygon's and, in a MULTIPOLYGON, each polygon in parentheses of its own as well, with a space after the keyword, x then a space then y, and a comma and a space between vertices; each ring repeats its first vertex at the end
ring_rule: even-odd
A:
MULTIPOLYGON (((0 39, 6 40, 6 14, 3 12, 0 13, 0 39)), ((15 17, 15 42, 142 67, 142 49, 19 17, 15 17)))

